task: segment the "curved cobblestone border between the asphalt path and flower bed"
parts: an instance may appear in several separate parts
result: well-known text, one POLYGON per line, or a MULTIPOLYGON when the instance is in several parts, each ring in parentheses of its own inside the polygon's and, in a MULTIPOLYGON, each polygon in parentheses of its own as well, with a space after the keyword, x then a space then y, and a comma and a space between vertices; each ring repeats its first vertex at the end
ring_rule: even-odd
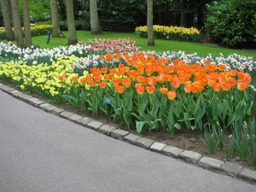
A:
POLYGON ((48 102, 40 100, 36 97, 26 95, 19 90, 15 90, 8 85, 0 84, 0 90, 3 90, 9 95, 27 102, 36 108, 40 108, 47 113, 53 113, 61 118, 68 119, 76 124, 90 128, 94 131, 98 131, 109 137, 123 140, 126 143, 131 143, 137 147, 145 148, 159 154, 165 154, 172 158, 184 160, 188 163, 195 164, 196 166, 200 166, 201 168, 212 172, 224 173, 230 177, 237 177, 243 181, 247 181, 253 184, 256 183, 256 171, 252 171, 239 165, 238 163, 216 160, 207 156, 202 156, 201 154, 195 153, 194 151, 183 150, 181 148, 166 145, 165 143, 155 142, 154 140, 145 137, 139 137, 133 133, 130 133, 129 131, 120 130, 115 126, 102 124, 102 122, 96 121, 94 119, 82 117, 78 114, 65 111, 62 108, 58 108, 49 104, 48 102))

